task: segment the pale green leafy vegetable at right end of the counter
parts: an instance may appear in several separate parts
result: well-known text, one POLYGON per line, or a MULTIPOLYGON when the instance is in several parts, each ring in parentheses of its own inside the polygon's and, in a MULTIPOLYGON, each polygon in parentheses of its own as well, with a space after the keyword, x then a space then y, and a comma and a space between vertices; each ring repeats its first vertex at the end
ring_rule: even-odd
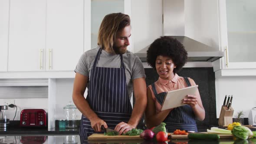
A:
POLYGON ((253 136, 253 132, 249 128, 244 126, 234 126, 231 132, 235 137, 243 140, 246 140, 253 136))

